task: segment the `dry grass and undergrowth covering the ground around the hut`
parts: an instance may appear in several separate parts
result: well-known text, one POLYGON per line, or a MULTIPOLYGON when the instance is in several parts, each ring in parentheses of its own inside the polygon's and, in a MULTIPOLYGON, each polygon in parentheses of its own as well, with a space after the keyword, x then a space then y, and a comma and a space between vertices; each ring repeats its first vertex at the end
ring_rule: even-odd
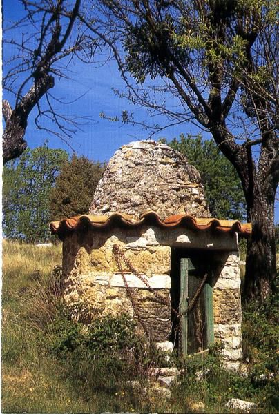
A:
MULTIPOLYGON (((226 413, 224 404, 232 397, 258 403, 259 413, 276 412, 270 403, 275 381, 262 384, 258 375, 274 370, 270 362, 275 363, 278 331, 272 307, 250 307, 244 312, 245 353, 252 363, 247 378, 225 372, 215 351, 183 363, 173 358, 186 374, 172 386, 168 400, 152 388, 155 377, 147 368, 154 356, 142 351, 131 365, 125 365, 128 359, 124 358, 123 370, 119 364, 122 352, 107 340, 116 329, 109 319, 104 319, 103 330, 102 323, 97 324, 89 335, 61 313, 59 288, 51 276, 53 266, 60 262, 61 244, 37 248, 3 242, 2 412, 191 413, 191 403, 202 401, 206 413, 226 413), (202 368, 208 374, 197 380, 195 373, 202 368), (129 386, 128 380, 138 380, 140 390, 129 386)), ((133 340, 132 335, 128 344, 133 340)))

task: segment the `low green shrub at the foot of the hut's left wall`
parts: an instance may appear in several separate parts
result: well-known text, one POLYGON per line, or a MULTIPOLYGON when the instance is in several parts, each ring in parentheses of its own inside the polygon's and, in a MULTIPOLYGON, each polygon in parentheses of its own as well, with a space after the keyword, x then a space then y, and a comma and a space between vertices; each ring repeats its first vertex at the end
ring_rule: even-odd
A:
POLYGON ((122 371, 143 351, 136 325, 126 315, 106 315, 84 326, 73 320, 68 308, 61 304, 55 319, 46 327, 45 345, 59 359, 76 359, 78 355, 78 359, 98 360, 122 371))

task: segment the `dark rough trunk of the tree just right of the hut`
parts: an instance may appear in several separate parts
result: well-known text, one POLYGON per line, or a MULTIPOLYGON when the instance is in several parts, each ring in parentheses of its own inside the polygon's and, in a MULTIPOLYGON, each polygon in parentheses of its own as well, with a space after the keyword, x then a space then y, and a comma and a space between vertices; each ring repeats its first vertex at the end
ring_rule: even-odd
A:
POLYGON ((244 297, 264 302, 275 289, 276 242, 274 200, 256 197, 247 205, 247 221, 252 223, 247 242, 244 297))

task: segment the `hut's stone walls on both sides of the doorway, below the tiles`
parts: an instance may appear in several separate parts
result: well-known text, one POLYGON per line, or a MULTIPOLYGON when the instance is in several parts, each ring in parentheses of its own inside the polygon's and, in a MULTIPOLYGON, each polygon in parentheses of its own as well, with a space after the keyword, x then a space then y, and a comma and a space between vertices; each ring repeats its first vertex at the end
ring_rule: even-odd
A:
MULTIPOLYGON (((189 231, 184 230, 184 233, 189 231)), ((176 246, 177 233, 171 231, 165 237, 164 232, 165 230, 155 227, 142 227, 106 231, 88 229, 68 235, 64 240, 64 297, 73 315, 84 322, 108 313, 126 313, 135 317, 113 256, 113 245, 117 244, 134 268, 144 275, 164 302, 169 303, 159 303, 143 282, 136 275, 128 273, 123 264, 126 281, 133 292, 137 309, 152 332, 153 339, 171 349, 172 344, 166 341, 171 332, 171 246, 176 246), (163 242, 169 245, 164 246, 163 242)), ((210 246, 214 246, 215 237, 211 235, 208 240, 210 246)), ((190 239, 191 237, 185 238, 186 248, 189 248, 190 239)), ((198 242, 194 238, 192 242, 196 248, 198 242)), ((236 246, 235 238, 232 238, 231 247, 236 246)), ((228 368, 238 369, 242 357, 238 252, 213 250, 211 255, 214 268, 215 341, 222 344, 224 364, 228 368)))

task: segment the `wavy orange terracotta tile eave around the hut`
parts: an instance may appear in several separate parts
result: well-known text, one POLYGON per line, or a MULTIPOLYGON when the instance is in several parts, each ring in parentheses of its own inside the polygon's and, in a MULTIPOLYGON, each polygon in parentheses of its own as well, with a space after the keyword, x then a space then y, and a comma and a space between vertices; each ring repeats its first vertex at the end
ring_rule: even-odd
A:
POLYGON ((121 227, 137 227, 142 224, 152 224, 161 228, 177 228, 185 227, 192 230, 216 230, 220 233, 240 233, 240 235, 248 236, 251 234, 252 226, 250 223, 240 224, 238 220, 218 220, 218 219, 198 219, 191 215, 172 215, 165 220, 154 211, 147 211, 135 219, 131 215, 124 213, 114 213, 113 215, 81 215, 62 219, 60 221, 52 221, 50 230, 52 234, 57 234, 63 239, 66 233, 83 228, 108 228, 108 226, 121 227))

